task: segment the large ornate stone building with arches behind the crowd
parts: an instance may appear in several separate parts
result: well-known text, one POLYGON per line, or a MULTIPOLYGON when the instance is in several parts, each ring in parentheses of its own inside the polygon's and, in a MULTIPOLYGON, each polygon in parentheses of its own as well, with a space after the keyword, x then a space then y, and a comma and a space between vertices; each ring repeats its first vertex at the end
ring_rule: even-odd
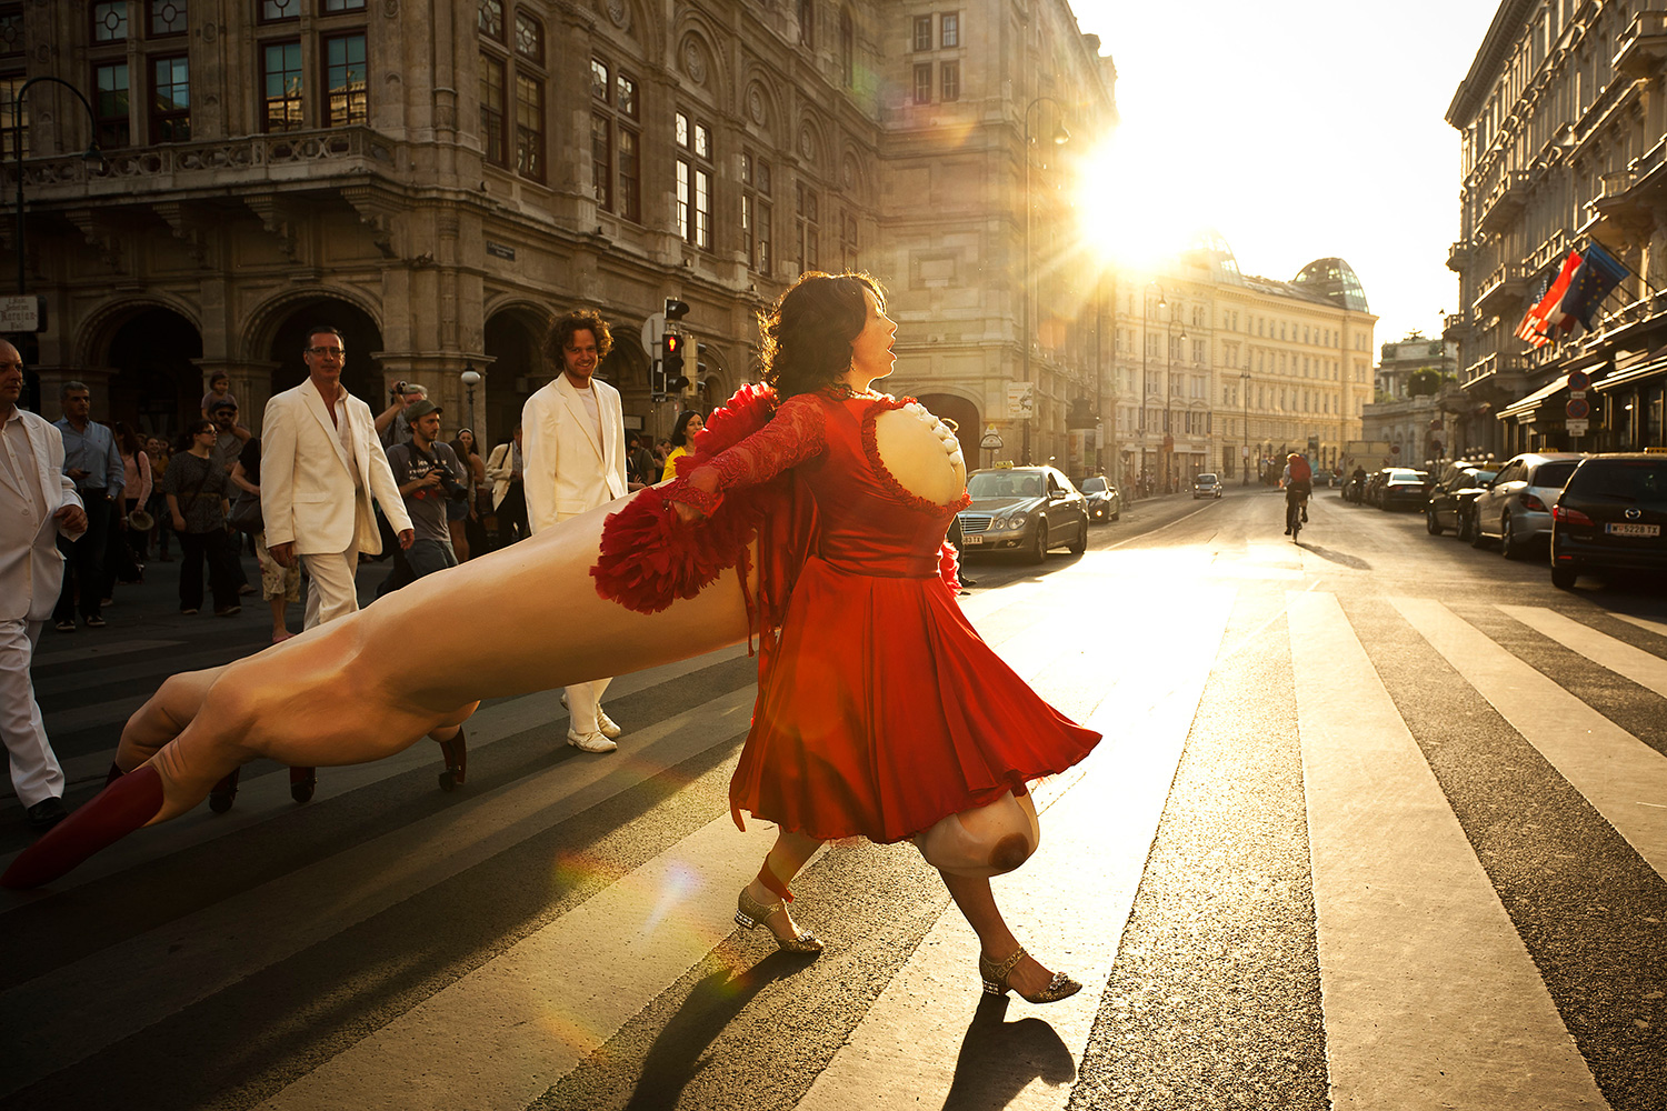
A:
MULTIPOLYGON (((498 440, 552 373, 548 321, 588 305, 627 423, 665 431, 640 335, 665 298, 712 405, 753 376, 758 308, 852 267, 894 290, 895 388, 975 438, 1022 378, 1024 262, 1069 237, 1070 163, 1027 123, 1092 143, 1112 78, 1064 0, 12 0, 32 386, 55 415, 82 378, 100 415, 173 431, 223 370, 258 426, 328 321, 372 408, 422 381, 450 428, 482 371, 472 423, 498 440)), ((1079 272, 1032 275, 1049 453, 1094 391, 1079 272)))

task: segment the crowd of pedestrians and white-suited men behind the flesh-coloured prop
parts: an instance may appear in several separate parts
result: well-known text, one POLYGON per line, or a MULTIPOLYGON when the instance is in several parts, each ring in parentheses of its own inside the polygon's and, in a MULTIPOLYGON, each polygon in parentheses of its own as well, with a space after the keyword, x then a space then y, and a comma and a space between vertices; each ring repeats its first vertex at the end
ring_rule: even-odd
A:
MULTIPOLYGON (((295 635, 287 606, 303 596, 303 630, 353 613, 365 561, 392 561, 377 590, 382 598, 668 480, 702 416, 678 413, 662 440, 627 431, 618 391, 593 376, 610 348, 597 313, 558 321, 548 355, 560 373, 483 456, 467 426, 443 438, 445 411, 422 385, 395 383, 375 415, 347 393, 340 376, 348 351, 330 325, 308 333, 307 380, 267 403, 260 436, 240 423, 222 371, 210 376, 198 416, 172 440, 93 420, 82 381, 63 385, 62 418, 48 423, 17 408, 22 358, 0 343, 0 486, 28 510, 7 515, 0 535, 0 580, 8 588, 0 608, 0 735, 30 825, 50 828, 67 813, 63 771, 28 680, 45 620, 60 633, 107 628, 105 610, 122 586, 143 583, 148 563, 177 560, 182 615, 200 613, 207 596, 215 616, 232 618, 258 591, 272 643, 282 643, 295 635), (245 551, 260 568, 258 585, 243 570, 245 551)), ((567 741, 588 753, 617 748, 620 726, 602 708, 607 683, 575 685, 562 696, 570 708, 567 741)), ((447 761, 440 785, 452 790, 467 775, 463 731, 430 736, 447 761)), ((317 770, 290 770, 297 801, 310 800, 315 786, 317 770)), ((235 795, 237 773, 215 786, 210 805, 225 811, 235 795)))

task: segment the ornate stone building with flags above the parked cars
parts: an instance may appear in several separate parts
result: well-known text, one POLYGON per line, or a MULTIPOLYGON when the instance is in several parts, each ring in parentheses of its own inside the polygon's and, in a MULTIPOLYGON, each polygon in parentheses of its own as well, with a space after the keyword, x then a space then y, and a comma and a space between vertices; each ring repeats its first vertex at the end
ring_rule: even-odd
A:
POLYGON ((1460 385, 1489 451, 1662 445, 1667 313, 1667 13, 1642 0, 1502 0, 1447 110, 1464 150, 1460 385), (1572 248, 1605 245, 1634 275, 1594 318, 1534 350, 1515 338, 1572 248), (1594 381, 1565 425, 1567 375, 1594 381))

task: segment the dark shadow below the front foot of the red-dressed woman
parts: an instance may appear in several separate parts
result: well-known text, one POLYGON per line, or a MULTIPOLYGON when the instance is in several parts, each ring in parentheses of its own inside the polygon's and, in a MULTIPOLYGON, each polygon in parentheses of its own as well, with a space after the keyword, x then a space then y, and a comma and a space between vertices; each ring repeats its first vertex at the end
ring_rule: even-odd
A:
POLYGON ((1004 1021, 1007 1003, 989 994, 979 1001, 944 1111, 999 1111, 1034 1079, 1057 1086, 1077 1078, 1077 1063, 1054 1028, 1040 1018, 1004 1021))

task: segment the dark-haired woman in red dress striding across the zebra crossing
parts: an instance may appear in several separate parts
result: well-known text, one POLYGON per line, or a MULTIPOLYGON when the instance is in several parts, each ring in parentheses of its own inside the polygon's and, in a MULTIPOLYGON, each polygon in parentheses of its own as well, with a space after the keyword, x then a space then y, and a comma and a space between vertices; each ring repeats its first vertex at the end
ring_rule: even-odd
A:
MULTIPOLYGON (((783 949, 817 951, 787 911, 793 874, 827 839, 909 838, 977 931, 985 991, 1064 999, 1080 984, 1020 948, 989 878, 1035 849, 1025 785, 1075 765, 1099 733, 1044 703, 955 603, 944 535, 967 505, 965 468, 940 421, 870 391, 895 361, 880 286, 867 275, 803 275, 762 331, 773 415, 722 451, 697 438, 695 458, 657 491, 692 521, 790 471, 780 500, 813 505, 812 551, 773 576, 792 583, 730 783, 737 823, 750 811, 780 826, 735 918, 768 928, 783 949), (914 488, 882 441, 894 465, 910 461, 914 488)), ((713 431, 722 426, 715 415, 713 431)))

